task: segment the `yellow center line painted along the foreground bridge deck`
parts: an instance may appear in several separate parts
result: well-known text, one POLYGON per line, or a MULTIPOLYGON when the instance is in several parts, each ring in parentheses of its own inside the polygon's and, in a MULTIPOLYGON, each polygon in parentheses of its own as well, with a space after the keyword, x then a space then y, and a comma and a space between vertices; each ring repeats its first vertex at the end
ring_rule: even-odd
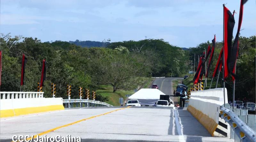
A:
MULTIPOLYGON (((131 107, 131 106, 126 107, 126 108, 130 108, 130 107, 131 107)), ((76 121, 76 122, 73 122, 73 123, 69 123, 69 124, 66 124, 66 125, 63 125, 63 126, 60 126, 60 127, 53 128, 53 129, 51 129, 51 130, 48 130, 48 131, 45 131, 45 132, 42 132, 42 133, 40 133, 40 134, 35 135, 34 138, 36 138, 37 136, 41 136, 41 135, 44 135, 44 134, 46 134, 46 133, 49 133, 49 132, 51 132, 51 131, 55 131, 55 130, 57 130, 57 129, 60 129, 60 128, 63 128, 63 127, 67 127, 67 126, 69 126, 69 125, 76 124, 76 123, 79 123, 79 122, 82 122, 82 121, 85 121, 85 120, 88 120, 88 119, 92 119, 92 118, 94 118, 94 117, 106 115, 106 114, 109 114, 109 113, 111 113, 111 112, 118 111, 118 110, 121 110, 121 109, 124 109, 124 108, 119 108, 119 109, 116 109, 116 110, 113 110, 113 111, 110 111, 110 112, 107 112, 107 113, 104 113, 104 114, 101 114, 101 115, 92 116, 92 117, 85 118, 85 119, 82 119, 82 120, 79 120, 79 121, 76 121)), ((31 139, 31 138, 27 138, 27 140, 30 140, 30 139, 31 139)), ((13 142, 13 141, 12 141, 12 142, 13 142)), ((19 142, 19 141, 17 141, 17 142, 19 142)))

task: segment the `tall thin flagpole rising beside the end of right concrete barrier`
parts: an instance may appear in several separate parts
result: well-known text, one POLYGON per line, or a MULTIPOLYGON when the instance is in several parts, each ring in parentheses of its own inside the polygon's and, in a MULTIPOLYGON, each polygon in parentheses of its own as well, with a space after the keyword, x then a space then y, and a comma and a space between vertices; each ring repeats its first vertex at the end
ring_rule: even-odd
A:
MULTIPOLYGON (((222 71, 223 71, 223 98, 224 98, 224 107, 225 107, 225 103, 226 103, 226 98, 225 98, 225 46, 224 46, 224 44, 225 44, 225 4, 223 4, 223 55, 222 55, 222 57, 223 57, 223 64, 222 64, 222 66, 223 66, 223 69, 222 69, 222 71)), ((216 86, 217 86, 217 84, 216 84, 216 86)))

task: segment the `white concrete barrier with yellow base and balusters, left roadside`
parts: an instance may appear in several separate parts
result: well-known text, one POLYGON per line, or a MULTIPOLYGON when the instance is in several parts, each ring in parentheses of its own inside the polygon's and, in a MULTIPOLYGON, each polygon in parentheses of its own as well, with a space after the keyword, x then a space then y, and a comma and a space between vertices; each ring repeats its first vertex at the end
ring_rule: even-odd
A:
MULTIPOLYGON (((20 116, 32 113, 47 112, 53 110, 63 110, 63 100, 62 98, 43 98, 35 97, 35 94, 43 92, 1 92, 3 99, 0 100, 0 117, 12 117, 20 116), (10 97, 4 97, 5 95, 10 97), (28 96, 28 97, 15 97, 14 95, 28 96), (34 94, 34 97, 32 97, 34 94), (31 97, 29 97, 31 96, 31 97)), ((39 95, 43 96, 43 95, 39 95)))

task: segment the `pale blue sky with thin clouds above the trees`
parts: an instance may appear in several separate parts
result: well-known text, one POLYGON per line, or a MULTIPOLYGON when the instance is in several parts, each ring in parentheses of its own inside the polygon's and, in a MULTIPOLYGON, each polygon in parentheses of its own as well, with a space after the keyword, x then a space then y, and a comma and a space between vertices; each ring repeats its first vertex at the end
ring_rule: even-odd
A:
MULTIPOLYGON (((223 39, 223 6, 240 0, 1 0, 0 32, 41 41, 164 39, 179 47, 223 39)), ((256 3, 244 5, 241 36, 256 32, 256 3)))

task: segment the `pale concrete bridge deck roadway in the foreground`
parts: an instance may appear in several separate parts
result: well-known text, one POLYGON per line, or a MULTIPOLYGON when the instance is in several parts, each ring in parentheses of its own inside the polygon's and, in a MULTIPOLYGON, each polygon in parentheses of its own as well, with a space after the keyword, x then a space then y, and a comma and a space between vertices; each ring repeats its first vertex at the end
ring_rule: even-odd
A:
POLYGON ((13 135, 81 137, 83 142, 229 142, 212 138, 187 111, 170 108, 66 109, 0 119, 0 141, 13 135), (93 140, 92 140, 93 139, 93 140))

